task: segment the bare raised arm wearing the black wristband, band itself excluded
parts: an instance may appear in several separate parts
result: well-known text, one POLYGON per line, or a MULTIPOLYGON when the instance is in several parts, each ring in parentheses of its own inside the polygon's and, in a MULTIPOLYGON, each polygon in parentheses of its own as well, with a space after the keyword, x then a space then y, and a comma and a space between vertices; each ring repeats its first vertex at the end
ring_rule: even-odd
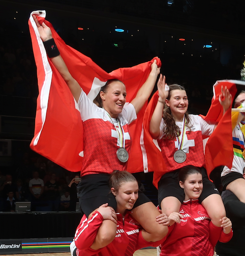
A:
MULTIPOLYGON (((48 40, 53 40, 52 32, 50 28, 43 22, 42 25, 38 22, 35 15, 32 15, 38 32, 40 34, 40 37, 43 42, 47 42, 48 40)), ((79 96, 81 94, 81 87, 78 84, 78 82, 71 76, 66 64, 64 63, 61 55, 58 55, 56 57, 50 58, 51 62, 54 64, 54 66, 57 68, 59 73, 61 74, 62 78, 66 82, 67 86, 69 87, 73 97, 78 102, 79 96)))

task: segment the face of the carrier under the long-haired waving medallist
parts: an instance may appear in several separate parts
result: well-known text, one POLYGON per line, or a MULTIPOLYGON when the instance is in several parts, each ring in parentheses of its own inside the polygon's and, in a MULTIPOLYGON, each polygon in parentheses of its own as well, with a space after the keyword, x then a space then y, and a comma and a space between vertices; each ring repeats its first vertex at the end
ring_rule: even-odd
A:
POLYGON ((200 173, 190 174, 185 181, 180 181, 180 186, 184 189, 184 200, 197 199, 203 191, 203 177, 200 173))

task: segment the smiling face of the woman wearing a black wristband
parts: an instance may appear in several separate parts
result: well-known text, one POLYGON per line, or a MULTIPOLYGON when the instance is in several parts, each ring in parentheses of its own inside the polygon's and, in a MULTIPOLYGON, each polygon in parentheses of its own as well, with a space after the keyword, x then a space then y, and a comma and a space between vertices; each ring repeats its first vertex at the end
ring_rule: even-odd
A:
POLYGON ((120 81, 114 81, 110 85, 106 92, 100 92, 103 108, 113 118, 117 118, 122 112, 122 108, 126 102, 126 88, 120 81))

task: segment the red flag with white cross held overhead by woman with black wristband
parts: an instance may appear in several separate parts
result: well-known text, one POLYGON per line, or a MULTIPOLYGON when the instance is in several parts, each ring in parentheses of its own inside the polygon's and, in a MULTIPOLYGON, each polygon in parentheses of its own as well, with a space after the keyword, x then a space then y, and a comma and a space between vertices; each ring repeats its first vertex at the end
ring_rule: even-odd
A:
MULTIPOLYGON (((46 16, 45 11, 33 11, 29 19, 32 48, 37 66, 39 95, 35 118, 34 137, 31 149, 38 154, 56 162, 69 171, 80 171, 83 161, 83 124, 76 102, 61 75, 47 57, 32 14, 41 24, 46 16)), ((84 92, 93 100, 108 79, 121 80, 127 90, 127 101, 137 94, 151 72, 152 61, 133 67, 119 68, 111 73, 105 72, 89 57, 66 45, 53 26, 52 35, 71 75, 78 81, 84 92)), ((140 136, 143 115, 147 103, 138 113, 138 119, 130 125, 133 144, 128 160, 128 170, 143 170, 140 136)))

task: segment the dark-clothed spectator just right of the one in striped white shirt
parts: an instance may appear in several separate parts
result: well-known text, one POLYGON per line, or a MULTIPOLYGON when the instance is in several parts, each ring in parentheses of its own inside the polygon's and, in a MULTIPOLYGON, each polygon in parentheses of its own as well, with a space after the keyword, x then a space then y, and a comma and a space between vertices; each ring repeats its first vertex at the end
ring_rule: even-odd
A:
POLYGON ((58 211, 60 203, 61 187, 56 181, 56 174, 51 174, 50 181, 47 181, 44 187, 45 198, 49 204, 50 211, 58 211))

